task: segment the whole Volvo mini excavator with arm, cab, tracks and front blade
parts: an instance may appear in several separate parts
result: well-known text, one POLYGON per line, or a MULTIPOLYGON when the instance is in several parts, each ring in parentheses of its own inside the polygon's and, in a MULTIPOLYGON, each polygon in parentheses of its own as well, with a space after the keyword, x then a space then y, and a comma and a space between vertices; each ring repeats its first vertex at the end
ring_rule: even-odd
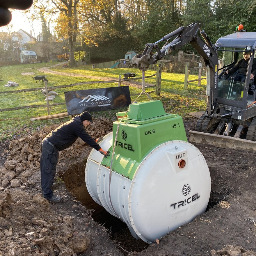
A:
POLYGON ((190 43, 205 62, 207 107, 196 122, 195 131, 190 131, 189 141, 256 152, 256 77, 250 80, 256 58, 256 32, 246 32, 241 24, 237 31, 212 44, 200 26, 192 23, 179 27, 157 42, 146 44, 143 53, 132 58, 131 65, 142 70, 144 78, 150 65, 190 43), (244 49, 250 52, 246 79, 234 81, 226 71, 243 58, 244 49), (218 54, 222 56, 221 68, 218 54))

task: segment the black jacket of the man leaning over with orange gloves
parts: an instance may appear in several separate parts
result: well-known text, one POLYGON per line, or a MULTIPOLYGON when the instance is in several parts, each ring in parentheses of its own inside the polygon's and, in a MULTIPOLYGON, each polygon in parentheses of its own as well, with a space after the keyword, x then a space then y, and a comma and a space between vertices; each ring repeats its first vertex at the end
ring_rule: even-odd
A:
POLYGON ((97 151, 100 150, 100 145, 86 132, 79 116, 75 116, 46 136, 59 151, 70 147, 78 137, 97 151))

